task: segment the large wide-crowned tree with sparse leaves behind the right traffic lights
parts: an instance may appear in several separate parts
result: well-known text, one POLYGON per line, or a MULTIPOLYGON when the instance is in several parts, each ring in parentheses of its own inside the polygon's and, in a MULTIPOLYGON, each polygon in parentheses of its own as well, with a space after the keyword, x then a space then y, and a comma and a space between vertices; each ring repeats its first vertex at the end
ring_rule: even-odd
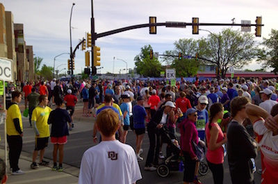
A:
POLYGON ((256 57, 254 45, 252 33, 223 29, 221 33, 211 33, 208 38, 199 39, 199 60, 220 68, 220 75, 224 78, 229 67, 243 68, 251 63, 256 57))

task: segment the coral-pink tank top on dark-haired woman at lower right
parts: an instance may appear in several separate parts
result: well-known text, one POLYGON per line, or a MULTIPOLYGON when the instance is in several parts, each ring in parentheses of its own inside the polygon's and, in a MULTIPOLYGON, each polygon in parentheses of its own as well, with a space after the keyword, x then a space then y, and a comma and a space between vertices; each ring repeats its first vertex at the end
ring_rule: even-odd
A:
MULTIPOLYGON (((206 153, 206 160, 213 164, 222 164, 224 162, 224 148, 220 146, 219 148, 215 149, 214 151, 211 151, 209 149, 209 141, 211 139, 211 134, 209 133, 208 128, 209 123, 206 123, 206 143, 208 145, 208 152, 206 153)), ((211 127, 216 126, 218 128, 218 139, 216 140, 216 143, 222 141, 224 139, 224 134, 218 125, 218 123, 211 123, 211 127)))

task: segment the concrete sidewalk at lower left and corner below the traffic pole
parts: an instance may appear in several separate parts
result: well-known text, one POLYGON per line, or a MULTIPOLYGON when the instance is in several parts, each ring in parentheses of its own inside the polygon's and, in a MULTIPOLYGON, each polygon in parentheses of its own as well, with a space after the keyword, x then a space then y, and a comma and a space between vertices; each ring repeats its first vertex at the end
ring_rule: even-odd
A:
MULTIPOLYGON (((24 100, 20 102, 19 108, 21 109, 21 112, 24 112, 24 100)), ((56 106, 51 106, 51 109, 55 109, 56 106)), ((91 117, 84 117, 83 115, 83 102, 78 102, 75 107, 74 112, 74 122, 79 123, 79 128, 74 129, 73 132, 83 132, 87 131, 93 128, 93 123, 95 122, 95 118, 93 116, 91 117), (89 129, 90 128, 90 129, 89 129)), ((92 114, 91 114, 92 115, 92 114)), ((22 116, 22 120, 26 124, 28 122, 28 118, 25 118, 22 116)), ((26 134, 29 134, 28 132, 32 131, 30 128, 26 128, 24 125, 24 132, 26 134)), ((0 158, 5 160, 5 148, 3 146, 3 135, 1 136, 1 145, 0 145, 0 158)), ((26 137, 25 137, 26 138, 26 137)), ((33 136, 32 136, 33 141, 33 136)), ((47 159, 45 159, 47 160, 47 159)), ((52 160, 48 160, 51 161, 52 160)), ((8 173, 8 181, 7 183, 78 183, 78 176, 79 176, 79 168, 78 167, 72 167, 70 165, 67 165, 63 163, 63 167, 65 167, 65 170, 62 172, 59 171, 52 171, 51 167, 52 164, 49 164, 48 166, 40 166, 38 169, 31 169, 30 165, 32 162, 32 154, 22 152, 19 158, 19 167, 22 169, 22 171, 25 171, 24 175, 12 175, 8 173)), ((8 169, 10 165, 7 163, 8 169)))

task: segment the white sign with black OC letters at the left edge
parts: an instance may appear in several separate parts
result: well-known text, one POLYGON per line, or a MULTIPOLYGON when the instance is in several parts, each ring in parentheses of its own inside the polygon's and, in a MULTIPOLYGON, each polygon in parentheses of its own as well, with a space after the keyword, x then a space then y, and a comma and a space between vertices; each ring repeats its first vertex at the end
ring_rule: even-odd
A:
POLYGON ((7 82, 13 82, 12 60, 0 58, 0 79, 7 82))

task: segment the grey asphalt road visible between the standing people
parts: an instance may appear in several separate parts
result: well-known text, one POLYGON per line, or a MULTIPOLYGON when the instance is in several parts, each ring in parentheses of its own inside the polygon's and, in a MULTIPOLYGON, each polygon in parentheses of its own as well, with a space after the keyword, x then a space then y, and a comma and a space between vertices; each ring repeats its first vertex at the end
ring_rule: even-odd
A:
MULTIPOLYGON (((23 118, 24 122, 24 144, 23 144, 23 150, 26 153, 33 153, 33 149, 35 146, 35 138, 34 138, 34 132, 33 128, 29 127, 28 119, 23 118)), ((64 163, 71 165, 72 167, 80 167, 81 158, 85 150, 90 148, 91 146, 94 146, 95 144, 92 142, 92 128, 93 123, 92 120, 83 121, 82 119, 79 121, 76 121, 75 128, 70 132, 70 136, 67 137, 67 144, 64 148, 64 163)), ((4 132, 3 132, 4 126, 0 125, 0 135, 2 137, 0 141, 0 145, 4 146, 4 132)), ((135 147, 136 144, 136 136, 133 132, 129 132, 126 139, 126 144, 129 144, 135 147)), ((165 145, 163 145, 163 153, 165 153, 165 145)), ((149 138, 147 133, 145 134, 143 143, 142 143, 143 153, 142 157, 144 160, 147 158, 147 151, 149 149, 149 138)), ((44 153, 44 157, 48 158, 49 160, 52 159, 52 150, 53 145, 50 143, 49 140, 49 146, 46 148, 46 151, 44 153)), ((243 151, 244 154, 244 151, 243 151)), ((261 168, 261 156, 258 155, 256 158, 256 166, 258 168, 261 168)), ((162 160, 161 160, 162 161, 162 160)), ((51 163, 52 164, 52 163, 51 163)), ((170 171, 170 174, 166 178, 161 178, 156 174, 156 171, 145 171, 145 161, 139 162, 140 169, 142 172, 142 180, 138 181, 138 183, 183 183, 183 173, 179 171, 170 171)), ((261 183, 261 175, 259 175, 257 172, 254 174, 255 183, 261 183)), ((213 176, 211 174, 211 171, 208 171, 208 174, 206 176, 199 176, 199 179, 202 181, 202 183, 213 183, 213 176)), ((231 183, 231 178, 229 176, 229 166, 227 164, 227 157, 224 158, 224 183, 229 184, 231 183)))

